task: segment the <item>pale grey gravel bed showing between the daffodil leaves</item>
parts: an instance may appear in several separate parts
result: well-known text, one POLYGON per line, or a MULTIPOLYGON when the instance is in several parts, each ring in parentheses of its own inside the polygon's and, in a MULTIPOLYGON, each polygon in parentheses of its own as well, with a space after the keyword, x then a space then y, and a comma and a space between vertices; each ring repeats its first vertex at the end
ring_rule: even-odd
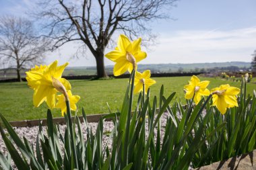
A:
MULTIPOLYGON (((166 125, 167 116, 168 116, 168 114, 165 113, 165 114, 163 114, 163 116, 161 118, 161 122, 162 122, 161 126, 162 127, 164 127, 166 125)), ((92 132, 95 134, 97 126, 98 126, 98 122, 90 122, 90 123, 88 123, 88 125, 90 126, 90 128, 92 128, 92 132)), ((66 127, 66 125, 59 125, 60 131, 62 134, 65 133, 65 127, 66 127)), ((84 127, 84 123, 82 123, 82 127, 84 127)), ((114 124, 111 121, 105 121, 105 122, 103 122, 103 127, 104 127, 104 132, 103 132, 103 136, 102 136, 102 145, 105 147, 106 144, 108 144, 108 148, 110 148, 110 150, 111 150, 112 141, 109 140, 109 134, 110 134, 111 130, 113 130, 114 124)), ((22 127, 22 128, 14 127, 13 129, 15 130, 15 132, 17 132, 17 134, 18 134, 18 136, 20 136, 20 138, 25 137, 26 139, 28 139, 28 141, 30 143, 33 144, 33 146, 35 146, 36 136, 38 134, 38 126, 22 127)), ((42 127, 42 131, 44 132, 44 134, 46 134, 46 126, 42 127)), ((156 134, 156 132, 157 131, 155 129, 154 133, 156 134)), ((87 134, 86 130, 83 130, 83 134, 84 134, 84 138, 86 140, 86 134, 87 134)), ((146 124, 146 137, 147 136, 148 136, 148 124, 146 124)), ((160 136, 161 136, 161 138, 164 138, 164 128, 161 128, 160 136)), ((5 147, 5 143, 3 142, 3 138, 1 135, 0 135, 0 151, 4 155, 7 155, 7 148, 5 147)), ((35 149, 34 149, 34 151, 35 151, 35 149)))

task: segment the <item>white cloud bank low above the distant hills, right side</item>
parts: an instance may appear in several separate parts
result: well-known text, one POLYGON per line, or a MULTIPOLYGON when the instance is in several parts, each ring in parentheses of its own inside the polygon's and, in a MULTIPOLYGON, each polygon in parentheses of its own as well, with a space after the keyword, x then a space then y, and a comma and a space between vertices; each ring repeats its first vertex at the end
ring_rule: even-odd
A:
POLYGON ((251 61, 256 27, 229 31, 181 30, 160 34, 160 44, 143 63, 251 61))

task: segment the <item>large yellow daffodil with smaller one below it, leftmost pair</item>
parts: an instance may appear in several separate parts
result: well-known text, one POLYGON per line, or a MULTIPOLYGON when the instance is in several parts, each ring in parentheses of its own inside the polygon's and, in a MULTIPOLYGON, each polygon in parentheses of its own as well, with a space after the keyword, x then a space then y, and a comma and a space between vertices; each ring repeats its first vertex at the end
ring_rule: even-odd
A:
POLYGON ((64 65, 57 66, 58 61, 51 63, 51 65, 37 65, 30 71, 26 72, 26 79, 30 88, 34 89, 33 103, 38 107, 41 103, 46 101, 49 108, 61 108, 62 115, 67 112, 65 100, 69 99, 71 110, 76 110, 75 103, 79 101, 78 95, 72 95, 71 85, 69 81, 61 78, 65 67, 64 65), (63 94, 57 95, 57 92, 63 94), (57 102, 56 102, 57 101, 57 102))

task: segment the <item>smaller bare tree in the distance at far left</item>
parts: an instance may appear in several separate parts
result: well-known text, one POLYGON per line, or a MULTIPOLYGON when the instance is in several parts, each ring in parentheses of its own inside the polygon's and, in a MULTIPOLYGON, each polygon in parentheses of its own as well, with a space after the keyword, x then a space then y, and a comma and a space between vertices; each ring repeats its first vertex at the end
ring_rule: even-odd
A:
POLYGON ((18 81, 22 81, 21 69, 34 65, 49 49, 46 38, 36 37, 30 20, 13 16, 0 18, 0 59, 15 67, 18 81))

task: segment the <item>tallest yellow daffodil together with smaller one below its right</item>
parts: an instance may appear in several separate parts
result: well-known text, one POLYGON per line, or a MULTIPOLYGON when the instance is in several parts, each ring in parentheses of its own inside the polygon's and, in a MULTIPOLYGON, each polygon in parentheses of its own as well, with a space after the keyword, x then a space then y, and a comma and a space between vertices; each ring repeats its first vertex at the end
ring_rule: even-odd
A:
MULTIPOLYGON (((143 60, 147 56, 146 52, 141 51, 140 44, 141 38, 131 42, 127 36, 123 34, 119 36, 115 50, 108 52, 108 54, 105 55, 106 58, 116 62, 113 71, 115 76, 122 75, 126 71, 131 73, 133 69, 135 69, 135 71, 137 70, 137 62, 143 60)), ((150 79, 150 76, 150 70, 144 71, 143 73, 136 71, 134 93, 143 91, 143 86, 145 87, 146 93, 148 88, 156 83, 156 81, 150 79)))

